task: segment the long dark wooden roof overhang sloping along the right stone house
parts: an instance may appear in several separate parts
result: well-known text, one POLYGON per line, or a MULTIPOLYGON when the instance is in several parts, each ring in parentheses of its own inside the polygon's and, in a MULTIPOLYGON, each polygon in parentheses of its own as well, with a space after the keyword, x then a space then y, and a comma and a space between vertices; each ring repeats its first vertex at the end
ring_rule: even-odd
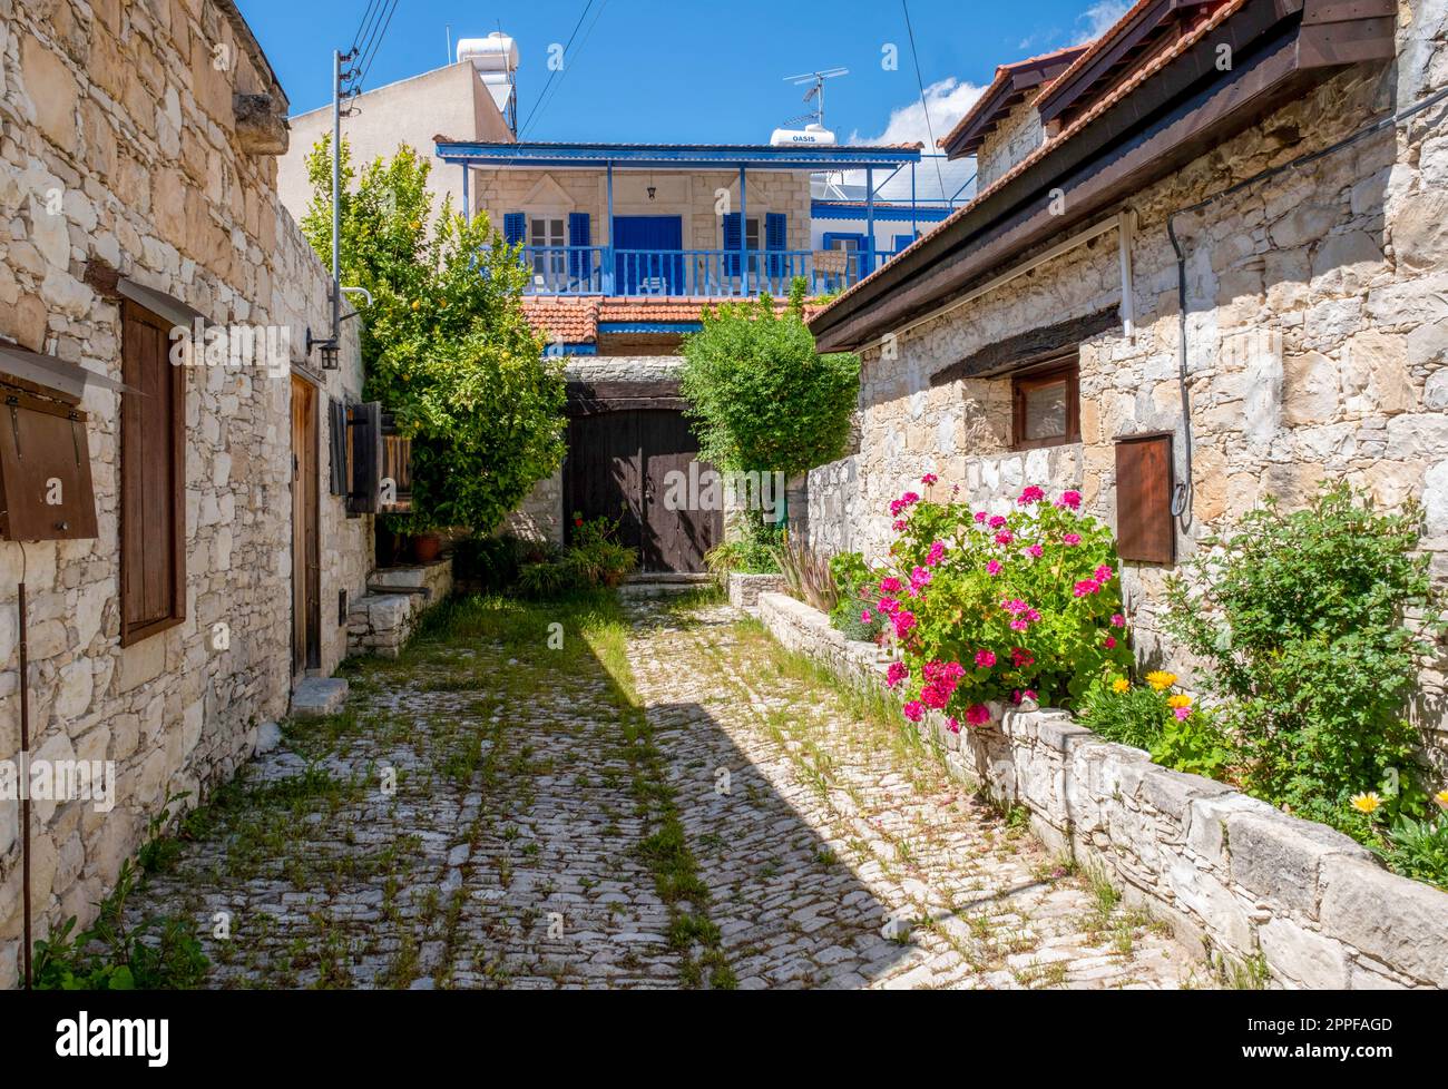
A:
POLYGON ((825 352, 948 306, 1006 262, 1099 220, 1347 64, 1394 54, 1392 0, 1245 0, 1190 48, 860 281, 809 327, 825 352), (1350 12, 1352 19, 1329 19, 1350 12), (1387 14, 1381 14, 1387 12, 1387 14), (1218 46, 1232 48, 1229 71, 1218 46), (1064 200, 1053 214, 1053 190, 1064 200))

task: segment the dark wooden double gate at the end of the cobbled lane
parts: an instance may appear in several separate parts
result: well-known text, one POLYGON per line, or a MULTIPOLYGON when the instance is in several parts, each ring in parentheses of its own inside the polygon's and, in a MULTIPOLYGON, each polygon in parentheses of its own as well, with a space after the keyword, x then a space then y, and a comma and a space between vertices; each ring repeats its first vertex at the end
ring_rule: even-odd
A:
MULTIPOLYGON (((573 416, 569 423, 565 501, 568 529, 573 511, 585 518, 620 520, 620 537, 639 547, 644 571, 704 571, 704 553, 723 536, 720 510, 702 510, 711 498, 705 489, 704 462, 692 472, 694 487, 675 487, 691 479, 699 443, 683 414, 670 408, 623 408, 573 416), (678 507, 670 510, 670 507, 678 507)), ((715 495, 718 491, 715 489, 715 495)))

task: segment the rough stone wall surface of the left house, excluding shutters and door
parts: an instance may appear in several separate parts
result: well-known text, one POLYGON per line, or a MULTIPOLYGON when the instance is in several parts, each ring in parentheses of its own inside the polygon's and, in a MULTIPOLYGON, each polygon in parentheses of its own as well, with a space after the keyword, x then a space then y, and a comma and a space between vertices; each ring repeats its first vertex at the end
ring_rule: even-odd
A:
MULTIPOLYGON (((195 801, 252 752, 291 691, 291 374, 361 390, 306 358, 327 327, 326 275, 239 130, 233 93, 272 94, 229 3, 0 0, 0 339, 119 379, 120 274, 223 324, 285 329, 290 359, 185 374, 185 620, 119 643, 119 404, 87 388, 96 540, 0 543, 0 759, 19 750, 16 584, 29 591, 32 749, 113 760, 117 805, 36 802, 36 937, 93 917, 167 796, 195 801), (224 623, 227 637, 214 637, 224 623)), ((324 404, 324 397, 320 398, 324 404)), ((319 463, 324 665, 345 653, 339 589, 365 584, 371 520, 327 495, 319 463), (327 620, 332 624, 327 624, 327 620)), ((0 986, 17 977, 17 804, 0 802, 0 986)))

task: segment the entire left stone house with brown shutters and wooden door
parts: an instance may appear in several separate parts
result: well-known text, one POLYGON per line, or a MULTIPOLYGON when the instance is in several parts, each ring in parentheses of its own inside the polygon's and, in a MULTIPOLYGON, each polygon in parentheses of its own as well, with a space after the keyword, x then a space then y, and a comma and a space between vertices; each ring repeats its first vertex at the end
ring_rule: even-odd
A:
MULTIPOLYGON (((75 521, 25 533, 41 500, 0 456, 28 539, 0 542, 0 763, 25 686, 36 760, 114 768, 109 811, 32 804, 36 937, 87 922, 167 799, 252 754, 366 592, 372 518, 348 517, 327 442, 361 395, 356 323, 330 366, 308 346, 330 278, 277 195, 285 109, 230 0, 0 0, 0 385, 19 456, 59 411, 78 474, 75 521)), ((0 986, 23 927, 10 789, 0 986)))

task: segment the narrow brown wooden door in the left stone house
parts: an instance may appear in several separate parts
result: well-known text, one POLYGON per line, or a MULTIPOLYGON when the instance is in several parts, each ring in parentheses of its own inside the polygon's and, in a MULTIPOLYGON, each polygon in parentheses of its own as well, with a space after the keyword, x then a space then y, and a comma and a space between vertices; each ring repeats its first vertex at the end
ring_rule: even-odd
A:
POLYGON ((321 663, 321 542, 317 533, 317 394, 291 379, 291 666, 321 663))

